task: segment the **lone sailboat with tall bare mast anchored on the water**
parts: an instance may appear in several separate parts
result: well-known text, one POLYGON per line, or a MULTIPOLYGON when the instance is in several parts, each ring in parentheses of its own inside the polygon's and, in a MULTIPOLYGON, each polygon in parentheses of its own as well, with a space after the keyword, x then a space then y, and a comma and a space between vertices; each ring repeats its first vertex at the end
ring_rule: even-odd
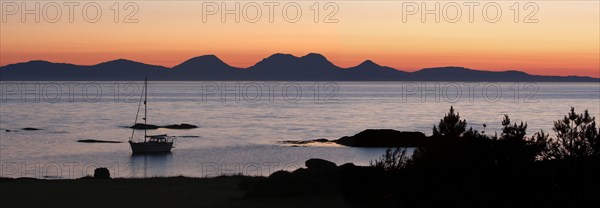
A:
POLYGON ((144 140, 143 141, 134 141, 133 136, 135 134, 135 129, 131 132, 131 137, 129 137, 129 145, 131 146, 131 151, 136 153, 160 153, 160 152, 171 152, 173 148, 173 140, 175 137, 167 136, 166 134, 161 135, 148 135, 147 134, 147 118, 148 118, 148 78, 144 80, 144 93, 140 97, 140 103, 138 104, 138 110, 135 115, 135 123, 137 124, 138 115, 140 113, 140 108, 142 104, 142 98, 144 103, 144 140))

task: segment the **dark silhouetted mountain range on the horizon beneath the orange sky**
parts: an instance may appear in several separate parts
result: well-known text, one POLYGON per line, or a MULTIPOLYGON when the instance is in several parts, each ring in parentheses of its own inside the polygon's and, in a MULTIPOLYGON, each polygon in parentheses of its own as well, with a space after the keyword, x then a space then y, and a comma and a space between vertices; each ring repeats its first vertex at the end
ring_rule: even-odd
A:
POLYGON ((585 76, 541 76, 455 66, 405 72, 370 60, 342 68, 317 53, 302 57, 277 53, 247 68, 230 66, 214 55, 198 56, 171 68, 125 59, 96 65, 29 61, 0 67, 2 81, 129 81, 144 77, 153 81, 600 82, 585 76))

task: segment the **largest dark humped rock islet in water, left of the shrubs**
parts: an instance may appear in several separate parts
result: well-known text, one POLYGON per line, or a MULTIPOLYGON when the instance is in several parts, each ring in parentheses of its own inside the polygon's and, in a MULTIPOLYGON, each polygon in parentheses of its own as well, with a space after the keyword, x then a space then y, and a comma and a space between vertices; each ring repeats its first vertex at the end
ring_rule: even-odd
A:
POLYGON ((367 129, 334 142, 351 147, 418 147, 426 138, 422 132, 367 129))

